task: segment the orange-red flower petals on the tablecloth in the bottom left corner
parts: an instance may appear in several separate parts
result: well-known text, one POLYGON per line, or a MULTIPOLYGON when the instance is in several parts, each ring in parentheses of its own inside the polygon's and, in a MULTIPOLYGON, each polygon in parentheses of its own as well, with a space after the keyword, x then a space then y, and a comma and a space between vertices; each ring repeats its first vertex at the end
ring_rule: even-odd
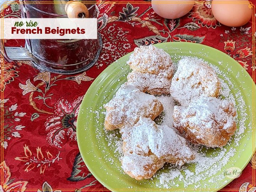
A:
POLYGON ((6 162, 3 161, 0 164, 0 171, 3 173, 3 181, 0 185, 1 192, 11 192, 11 191, 19 191, 24 192, 26 190, 27 181, 16 181, 14 182, 14 178, 11 178, 10 168, 6 165, 6 162))

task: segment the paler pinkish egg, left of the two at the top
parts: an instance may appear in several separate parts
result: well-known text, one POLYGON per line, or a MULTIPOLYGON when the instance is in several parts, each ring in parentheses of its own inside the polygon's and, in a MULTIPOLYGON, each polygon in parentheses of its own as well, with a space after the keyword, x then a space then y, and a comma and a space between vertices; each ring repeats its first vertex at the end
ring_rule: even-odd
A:
POLYGON ((180 18, 186 15, 192 9, 194 0, 174 0, 180 1, 180 3, 170 3, 171 1, 166 0, 152 0, 152 8, 161 17, 168 19, 180 18), (183 3, 182 3, 183 1, 183 3), (190 1, 190 2, 188 2, 190 1), (164 3, 166 2, 166 3, 164 3), (169 2, 169 3, 168 3, 169 2), (187 3, 186 3, 187 2, 187 3))

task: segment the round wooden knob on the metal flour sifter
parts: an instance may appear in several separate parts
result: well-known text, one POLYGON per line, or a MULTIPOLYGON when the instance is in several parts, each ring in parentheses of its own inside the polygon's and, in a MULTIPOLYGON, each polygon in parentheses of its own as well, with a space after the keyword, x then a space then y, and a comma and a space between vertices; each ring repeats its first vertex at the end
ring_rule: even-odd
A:
POLYGON ((88 18, 89 11, 87 7, 78 1, 68 1, 65 5, 65 11, 69 18, 88 18))

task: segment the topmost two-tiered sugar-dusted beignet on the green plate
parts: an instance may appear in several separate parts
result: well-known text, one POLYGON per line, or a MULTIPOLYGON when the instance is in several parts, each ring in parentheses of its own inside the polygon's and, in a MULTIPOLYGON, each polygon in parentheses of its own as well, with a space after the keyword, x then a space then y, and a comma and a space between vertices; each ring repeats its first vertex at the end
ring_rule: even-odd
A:
POLYGON ((174 71, 171 57, 163 49, 152 45, 135 48, 127 64, 133 69, 128 84, 154 95, 169 94, 174 71))

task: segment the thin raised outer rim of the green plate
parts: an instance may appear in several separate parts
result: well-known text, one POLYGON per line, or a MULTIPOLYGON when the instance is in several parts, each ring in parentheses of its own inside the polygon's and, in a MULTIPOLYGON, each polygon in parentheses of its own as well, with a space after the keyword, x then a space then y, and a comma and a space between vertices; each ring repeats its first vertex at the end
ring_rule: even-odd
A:
MULTIPOLYGON (((222 51, 220 51, 219 49, 216 49, 216 48, 213 48, 213 47, 210 47, 210 46, 207 46, 207 45, 204 45, 204 44, 200 44, 200 43, 191 43, 191 42, 165 42, 165 43, 157 43, 157 44, 154 44, 154 46, 155 45, 159 45, 159 44, 193 44, 194 46, 199 46, 199 47, 207 47, 207 48, 209 48, 209 49, 213 49, 214 51, 217 51, 217 52, 219 52, 220 54, 222 54, 222 55, 225 55, 225 57, 230 57, 229 55, 227 55, 227 54, 225 54, 224 52, 222 52, 222 51)), ((123 55, 121 58, 119 58, 119 59, 122 59, 122 58, 124 58, 124 57, 128 57, 128 55, 130 55, 130 54, 132 54, 133 53, 133 51, 132 52, 130 52, 130 53, 127 53, 126 55, 123 55)), ((243 71, 246 71, 234 58, 232 58, 232 57, 230 57, 231 59, 233 59, 233 61, 236 63, 236 65, 238 65, 238 67, 241 69, 241 70, 243 70, 243 71)), ((85 97, 87 96, 87 95, 89 95, 90 94, 90 92, 91 92, 91 89, 93 89, 92 87, 94 86, 94 84, 97 84, 97 81, 98 80, 100 80, 101 78, 102 78, 102 76, 104 75, 104 73, 105 73, 105 71, 106 70, 108 70, 109 68, 113 68, 113 67, 115 67, 116 65, 118 65, 118 60, 119 59, 117 59, 117 60, 115 60, 113 63, 111 63, 109 66, 107 66, 98 76, 97 76, 97 78, 92 82, 92 84, 90 85, 90 87, 87 89, 87 91, 86 91, 86 93, 85 93, 85 95, 84 95, 84 98, 83 98, 83 100, 82 100, 82 102, 81 102, 81 104, 80 104, 80 106, 82 106, 82 105, 85 105, 84 103, 86 103, 85 102, 85 97)), ((246 73, 247 73, 247 75, 249 75, 249 77, 250 77, 250 82, 249 83, 251 83, 251 84, 253 84, 254 85, 254 90, 255 90, 255 92, 256 92, 256 84, 254 83, 254 81, 253 81, 253 79, 252 79, 252 77, 251 77, 251 75, 246 71, 246 73)), ((81 144, 79 144, 80 142, 79 142, 79 129, 78 129, 78 127, 80 127, 79 125, 80 125, 80 122, 81 122, 81 120, 80 120, 80 115, 79 114, 82 114, 82 112, 81 112, 81 107, 79 108, 79 113, 78 113, 78 119, 77 119, 77 126, 76 126, 76 138, 77 138, 77 143, 78 143, 78 148, 79 148, 79 152, 80 152, 80 154, 81 154, 81 157, 82 157, 82 159, 83 159, 83 161, 84 161, 84 163, 85 163, 85 165, 86 165, 86 167, 87 167, 87 169, 91 172, 91 174, 96 178, 96 180, 98 181, 98 182, 100 182, 104 187, 106 187, 108 190, 110 190, 110 191, 113 191, 113 192, 118 192, 116 189, 113 189, 112 187, 110 187, 108 184, 107 184, 107 182, 105 182, 105 181, 102 181, 102 180, 100 180, 100 179, 98 179, 98 176, 97 176, 97 174, 95 174, 94 173, 94 171, 93 171, 93 169, 90 167, 90 166, 88 166, 87 165, 87 160, 86 160, 86 158, 84 158, 84 156, 82 155, 82 153, 81 153, 81 144)), ((252 137, 254 137, 254 135, 252 135, 252 137)), ((252 146, 253 148, 254 148, 254 146, 252 146)), ((241 169, 241 171, 243 171, 244 169, 245 169, 245 167, 249 164, 249 162, 250 162, 250 160, 251 160, 251 158, 252 158, 252 156, 254 155, 254 153, 255 153, 255 151, 256 151, 256 147, 253 149, 253 151, 252 151, 252 154, 250 155, 250 158, 245 162, 245 164, 242 166, 242 169, 241 169)), ((216 192, 216 191, 219 191, 220 189, 222 189, 222 188, 224 188, 225 186, 227 186, 230 182, 232 182, 233 180, 234 180, 235 178, 230 178, 230 180, 228 180, 228 182, 226 182, 221 188, 218 188, 218 189, 216 189, 216 190, 213 190, 212 192, 216 192)), ((141 190, 140 190, 141 191, 141 190)))

